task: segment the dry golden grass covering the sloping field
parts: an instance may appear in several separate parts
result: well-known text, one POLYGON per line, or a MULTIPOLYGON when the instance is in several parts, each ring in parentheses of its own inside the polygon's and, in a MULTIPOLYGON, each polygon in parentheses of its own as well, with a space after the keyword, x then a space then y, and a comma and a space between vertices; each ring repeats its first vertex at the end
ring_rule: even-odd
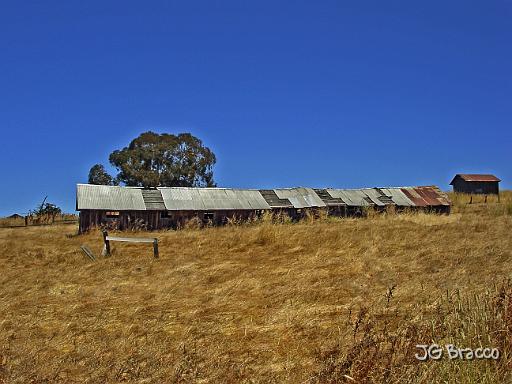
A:
POLYGON ((0 229, 0 382, 510 380, 512 193, 450 216, 157 232, 0 229), (140 236, 140 235, 139 235, 140 236), (153 235, 152 235, 153 236, 153 235), (418 343, 498 362, 420 363, 418 343))

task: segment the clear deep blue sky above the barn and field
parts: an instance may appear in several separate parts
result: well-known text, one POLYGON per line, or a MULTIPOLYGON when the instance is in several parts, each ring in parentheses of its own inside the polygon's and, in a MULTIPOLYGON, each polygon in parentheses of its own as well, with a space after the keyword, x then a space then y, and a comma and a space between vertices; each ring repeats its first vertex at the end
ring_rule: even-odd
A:
POLYGON ((139 133, 192 132, 219 186, 512 187, 512 1, 40 1, 0 12, 0 215, 139 133))

